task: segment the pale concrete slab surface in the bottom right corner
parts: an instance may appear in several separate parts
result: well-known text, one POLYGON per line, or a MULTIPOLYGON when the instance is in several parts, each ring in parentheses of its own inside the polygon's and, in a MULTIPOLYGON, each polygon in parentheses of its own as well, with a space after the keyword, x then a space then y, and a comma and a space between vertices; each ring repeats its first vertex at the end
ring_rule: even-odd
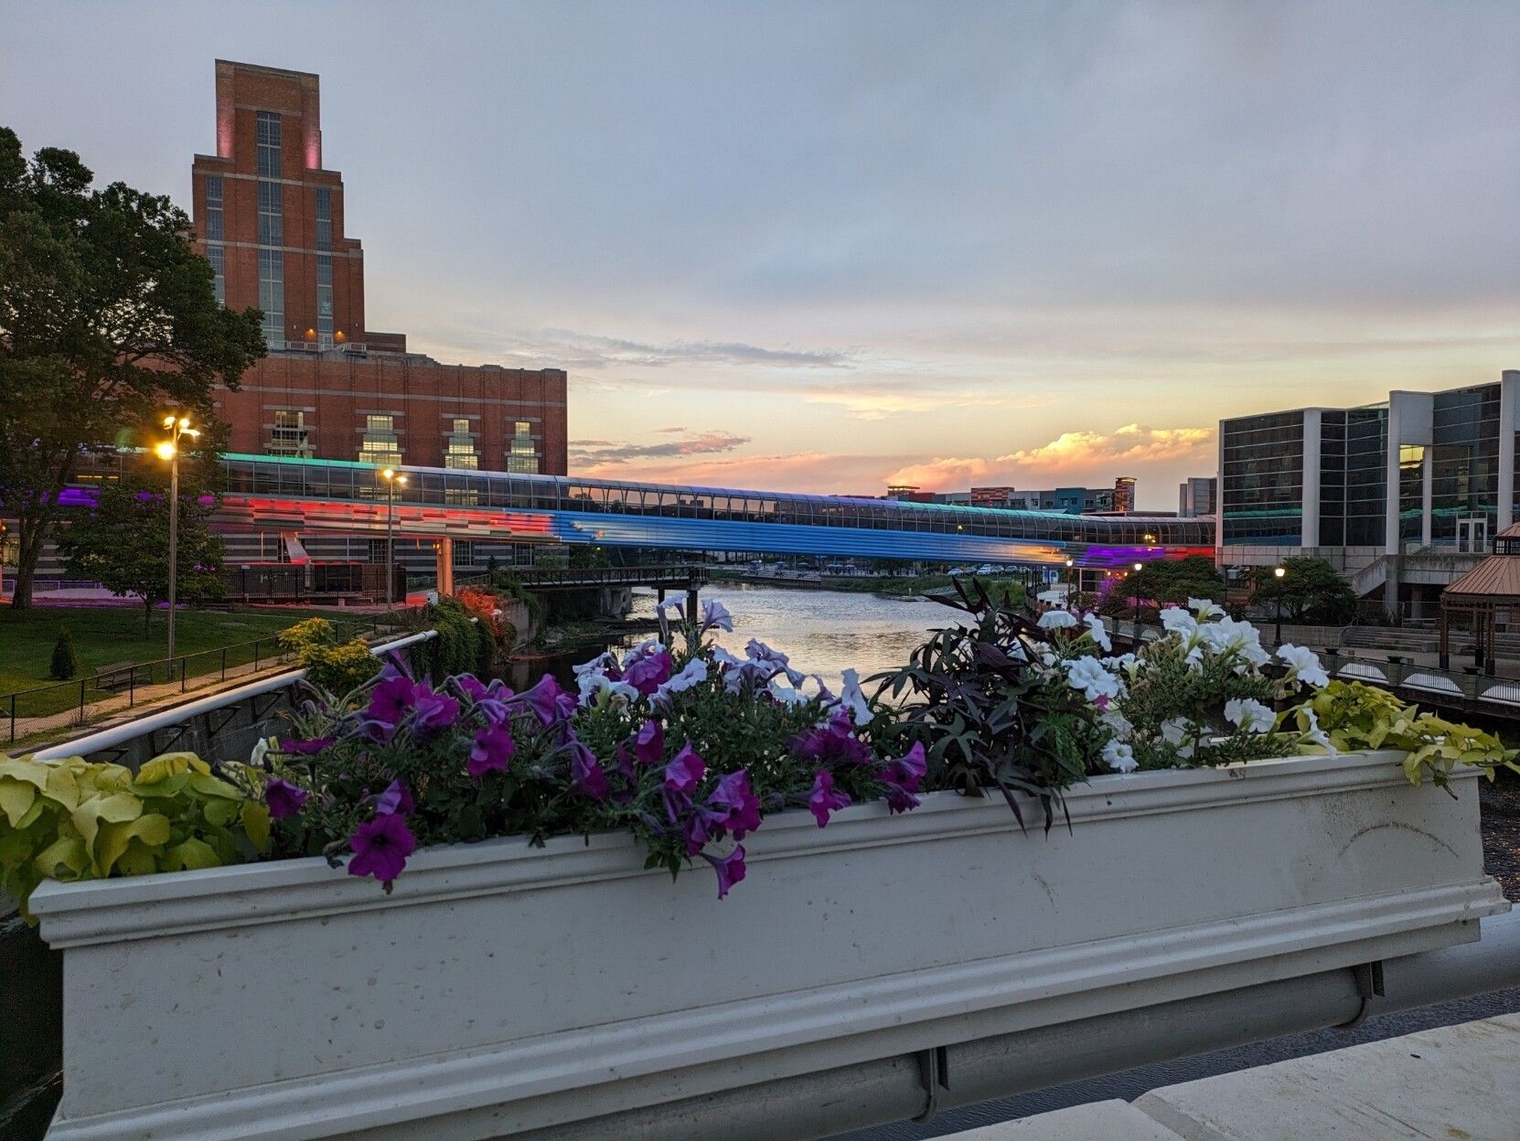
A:
POLYGON ((941 1141, 1520 1139, 1520 1015, 1093 1101, 941 1141))

